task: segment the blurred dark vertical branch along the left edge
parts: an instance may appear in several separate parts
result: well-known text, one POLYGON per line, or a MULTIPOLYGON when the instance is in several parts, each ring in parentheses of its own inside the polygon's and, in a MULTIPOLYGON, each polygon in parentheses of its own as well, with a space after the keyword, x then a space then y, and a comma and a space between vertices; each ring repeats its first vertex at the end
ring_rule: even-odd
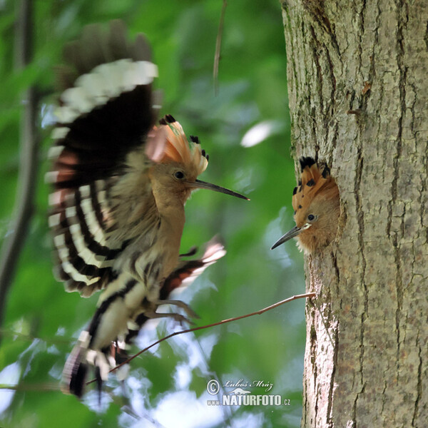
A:
MULTIPOLYGON (((33 1, 21 0, 16 26, 16 65, 24 68, 32 56, 33 1)), ((39 139, 36 135, 36 91, 28 88, 24 95, 24 112, 21 119, 21 160, 19 187, 16 193, 14 220, 9 225, 9 236, 4 240, 0 255, 0 326, 4 319, 6 295, 11 287, 16 262, 24 244, 29 223, 34 212, 39 139)), ((1 332, 0 332, 1 340, 1 332)))

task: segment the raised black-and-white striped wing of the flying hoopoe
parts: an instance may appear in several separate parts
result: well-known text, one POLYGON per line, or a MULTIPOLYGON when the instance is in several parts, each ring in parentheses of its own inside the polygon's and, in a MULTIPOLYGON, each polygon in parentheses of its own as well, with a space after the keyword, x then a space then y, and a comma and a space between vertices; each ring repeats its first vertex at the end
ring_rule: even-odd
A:
POLYGON ((88 296, 114 277, 118 255, 142 233, 141 219, 157 215, 143 147, 156 118, 157 68, 143 35, 128 44, 121 21, 108 31, 86 27, 64 58, 46 176, 54 185, 49 225, 58 279, 88 296))

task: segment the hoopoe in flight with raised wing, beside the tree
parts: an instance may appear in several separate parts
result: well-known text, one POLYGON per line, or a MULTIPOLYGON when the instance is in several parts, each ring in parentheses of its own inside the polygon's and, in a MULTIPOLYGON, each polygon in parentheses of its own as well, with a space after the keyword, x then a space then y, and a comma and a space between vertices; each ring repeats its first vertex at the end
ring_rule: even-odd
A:
POLYGON ((206 188, 248 198, 198 180, 208 155, 197 137, 188 141, 173 116, 155 126, 158 71, 142 34, 129 43, 121 21, 112 21, 108 31, 87 26, 66 46, 64 60, 56 142, 49 151, 53 167, 46 175, 54 185, 49 225, 56 276, 83 297, 103 290, 63 372, 66 389, 81 396, 88 364, 96 367, 101 387, 112 342, 135 335, 147 318, 167 316, 156 312, 158 305, 192 314, 183 302, 168 300, 170 291, 224 253, 213 244, 215 255, 180 260, 190 193, 206 188))

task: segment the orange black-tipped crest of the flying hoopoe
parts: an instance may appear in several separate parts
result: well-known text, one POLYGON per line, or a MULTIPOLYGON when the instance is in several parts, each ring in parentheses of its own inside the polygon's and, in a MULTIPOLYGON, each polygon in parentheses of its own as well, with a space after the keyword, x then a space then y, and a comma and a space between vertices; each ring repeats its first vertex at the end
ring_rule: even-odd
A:
POLYGON ((163 117, 160 126, 153 128, 148 138, 146 154, 156 163, 183 163, 195 170, 196 175, 205 171, 209 156, 200 148, 198 137, 185 136, 180 123, 170 114, 163 117))

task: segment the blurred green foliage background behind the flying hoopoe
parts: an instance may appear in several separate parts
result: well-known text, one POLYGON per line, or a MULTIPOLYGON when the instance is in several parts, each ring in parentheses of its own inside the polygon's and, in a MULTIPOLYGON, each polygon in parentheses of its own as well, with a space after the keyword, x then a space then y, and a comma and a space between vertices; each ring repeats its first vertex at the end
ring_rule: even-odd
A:
MULTIPOLYGON (((14 21, 19 1, 0 1, 0 237, 13 220, 19 173, 21 93, 35 85, 41 98, 42 145, 36 214, 6 303, 0 347, 1 427, 299 427, 305 347, 302 300, 221 327, 179 335, 131 363, 123 387, 114 376, 101 407, 88 388, 83 402, 58 390, 63 363, 78 332, 93 314, 97 297, 64 292, 51 274, 46 224, 44 159, 51 143, 54 64, 63 44, 85 24, 121 18, 130 34, 143 31, 158 64, 162 114, 172 113, 198 135, 210 153, 203 175, 248 195, 249 203, 199 191, 186 205, 183 250, 216 233, 228 254, 208 268, 180 298, 200 315, 198 325, 243 315, 305 290, 302 255, 293 243, 270 245, 292 226, 286 58, 277 0, 229 1, 218 73, 213 83, 215 41, 223 2, 165 0, 34 1, 34 60, 14 71, 14 21), (253 128, 259 125, 258 128, 253 128), (245 133, 245 143, 241 145, 245 133), (265 131, 262 135, 257 131, 265 131), (208 380, 272 382, 270 394, 290 406, 213 407, 208 380)), ((179 328, 152 325, 138 347, 179 328)), ((135 350, 138 350, 135 347, 135 350)), ((263 388, 251 389, 266 394, 263 388)))

